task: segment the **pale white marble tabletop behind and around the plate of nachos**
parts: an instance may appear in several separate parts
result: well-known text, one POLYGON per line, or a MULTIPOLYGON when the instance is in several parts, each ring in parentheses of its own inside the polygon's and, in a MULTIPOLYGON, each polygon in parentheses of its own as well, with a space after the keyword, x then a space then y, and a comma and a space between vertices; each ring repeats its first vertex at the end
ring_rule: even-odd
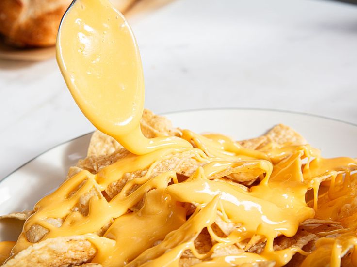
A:
MULTIPOLYGON (((129 21, 155 112, 272 108, 357 124, 357 6, 176 0, 129 21)), ((0 179, 93 130, 54 59, 0 61, 0 94, 0 179)))

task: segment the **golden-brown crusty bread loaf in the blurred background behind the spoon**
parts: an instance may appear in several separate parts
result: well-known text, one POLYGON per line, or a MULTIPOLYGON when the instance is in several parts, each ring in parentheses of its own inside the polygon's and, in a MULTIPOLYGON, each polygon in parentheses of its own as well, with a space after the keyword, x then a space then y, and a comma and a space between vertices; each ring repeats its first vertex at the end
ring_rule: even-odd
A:
MULTIPOLYGON (((124 12, 134 0, 113 0, 124 12)), ((18 47, 56 43, 58 26, 72 0, 0 0, 0 33, 18 47)))

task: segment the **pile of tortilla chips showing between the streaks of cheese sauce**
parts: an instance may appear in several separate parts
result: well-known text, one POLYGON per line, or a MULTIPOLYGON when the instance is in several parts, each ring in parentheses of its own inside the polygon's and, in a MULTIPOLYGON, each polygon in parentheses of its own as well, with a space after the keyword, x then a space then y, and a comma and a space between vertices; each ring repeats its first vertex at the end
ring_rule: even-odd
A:
MULTIPOLYGON (((143 118, 141 120, 141 128, 146 137, 152 138, 159 135, 176 135, 180 136, 181 131, 178 128, 174 128, 171 122, 166 118, 154 115, 152 112, 145 110, 143 118)), ((302 145, 307 142, 305 139, 285 125, 277 125, 271 129, 268 133, 250 140, 238 141, 238 144, 243 148, 260 150, 269 144, 293 144, 302 145)), ((92 138, 88 148, 88 155, 85 159, 80 160, 76 166, 69 169, 67 179, 77 174, 81 170, 87 170, 93 174, 96 174, 104 167, 120 161, 125 158, 130 152, 123 148, 112 137, 96 131, 92 138)), ((198 162, 195 156, 190 152, 183 152, 172 155, 170 158, 163 159, 157 163, 151 170, 151 176, 155 177, 164 172, 174 170, 180 181, 191 176, 199 166, 205 163, 198 162)), ((351 169, 350 171, 354 171, 351 169)), ((111 183, 105 190, 105 194, 108 198, 113 198, 118 194, 123 187, 134 178, 142 177, 146 174, 147 169, 139 170, 134 173, 127 173, 123 178, 111 183)), ((229 172, 227 176, 220 177, 229 183, 240 186, 245 190, 249 190, 251 185, 257 180, 257 175, 240 175, 239 172, 231 174, 229 172)), ((343 171, 341 172, 343 173, 343 171)), ((325 183, 328 183, 329 177, 324 178, 325 183)), ((349 187, 357 188, 357 183, 352 179, 349 187)), ((325 186, 327 187, 327 186, 325 186)), ((324 186, 322 187, 324 188, 324 186)), ((135 188, 133 189, 135 190, 135 188)), ((319 192, 318 205, 329 205, 331 200, 328 194, 319 192)), ((274 240, 274 249, 282 250, 290 248, 292 246, 303 249, 306 252, 319 253, 321 255, 321 262, 314 266, 328 266, 330 265, 331 255, 334 252, 334 241, 337 239, 343 240, 344 238, 356 238, 357 229, 357 190, 352 190, 352 195, 348 197, 342 195, 338 200, 341 201, 341 208, 336 212, 333 220, 324 219, 309 219, 300 224, 298 232, 293 237, 279 236, 274 240)), ((89 199, 96 192, 87 193, 80 200, 81 203, 78 207, 74 207, 76 211, 81 214, 88 212, 89 199)), ((313 194, 311 191, 306 196, 310 207, 313 206, 313 194), (312 196, 311 196, 312 195, 312 196)), ((140 203, 130 208, 132 211, 140 209, 140 203)), ((188 208, 187 217, 189 217, 195 210, 195 206, 191 204, 188 208)), ((2 216, 1 218, 16 218, 18 220, 27 220, 35 211, 17 212, 9 215, 2 216)), ((234 223, 229 223, 223 220, 224 216, 219 214, 216 221, 211 225, 211 228, 215 232, 215 235, 219 237, 227 237, 236 227, 234 223)), ((48 223, 57 225, 60 227, 64 222, 63 219, 48 218, 48 223)), ((100 232, 96 234, 103 236, 105 231, 111 225, 103 226, 100 232)), ((149 226, 148 226, 149 227, 149 226)), ((11 257, 5 261, 4 267, 12 266, 38 266, 38 267, 66 267, 66 266, 101 266, 97 263, 91 263, 92 259, 96 255, 96 247, 88 241, 84 236, 71 236, 71 237, 54 237, 46 239, 48 229, 34 224, 30 230, 25 234, 28 241, 33 243, 30 247, 11 255, 11 257)), ((211 250, 214 240, 211 238, 207 228, 204 228, 201 233, 195 239, 195 248, 199 253, 206 253, 211 250)), ((159 242, 157 242, 159 243, 159 242)), ((213 253, 210 254, 208 259, 199 259, 189 250, 185 251, 179 260, 179 265, 193 266, 195 264, 202 263, 206 260, 210 260, 214 257, 222 257, 229 255, 237 255, 242 252, 262 252, 266 243, 266 239, 259 235, 252 237, 249 240, 243 242, 218 247, 213 253)), ((138 244, 140 245, 140 244, 138 244)), ((356 243, 357 246, 357 243, 356 243)), ((354 246, 343 248, 340 251, 342 260, 341 265, 352 266, 352 258, 354 255, 354 246)), ((310 254, 310 255, 311 255, 310 254)), ((303 262, 305 266, 309 266, 312 263, 309 261, 310 255, 302 255, 296 253, 287 266, 300 266, 303 262)), ((0 263, 1 264, 1 263, 0 263)), ((227 265, 226 265, 227 266, 227 265)), ((274 261, 263 261, 250 264, 244 264, 242 266, 275 266, 274 261)))

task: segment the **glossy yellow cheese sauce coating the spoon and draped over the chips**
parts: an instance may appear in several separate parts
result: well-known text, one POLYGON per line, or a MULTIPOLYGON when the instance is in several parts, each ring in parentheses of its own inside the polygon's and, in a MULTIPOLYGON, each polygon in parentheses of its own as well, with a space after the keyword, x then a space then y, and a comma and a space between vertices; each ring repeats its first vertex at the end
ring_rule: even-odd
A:
MULTIPOLYGON (((308 144, 271 143, 253 150, 224 135, 190 130, 183 130, 181 137, 147 139, 140 130, 144 79, 139 50, 128 23, 107 0, 77 0, 61 23, 56 47, 65 82, 84 115, 131 153, 97 174, 79 172, 41 199, 24 224, 13 256, 32 245, 26 233, 33 225, 48 229, 41 240, 85 236, 97 249, 92 262, 104 267, 179 266, 187 250, 202 260, 199 267, 262 261, 283 266, 295 253, 308 255, 304 266, 339 266, 341 255, 356 248, 352 226, 336 240, 319 239, 312 253, 295 246, 273 247, 276 237, 293 237, 307 219, 339 219, 343 205, 355 196, 349 187, 356 179, 351 174, 357 169, 354 159, 324 159, 308 144), (174 169, 152 176, 153 166, 183 152, 190 152, 199 163, 193 175, 181 182, 174 169), (147 172, 128 181, 113 198, 103 193, 138 170, 147 172), (230 175, 230 182, 219 179, 230 175), (245 187, 234 181, 234 175, 256 181, 245 187), (328 201, 319 203, 325 180, 330 180, 323 194, 328 201), (311 204, 306 199, 309 190, 314 192, 311 204), (74 209, 88 192, 95 193, 87 212, 74 209), (196 207, 192 214, 191 204, 196 207), (218 216, 236 225, 225 237, 212 228, 218 216), (63 222, 53 225, 48 218, 63 222), (200 253, 195 239, 204 229, 211 235, 212 247, 200 253), (211 257, 217 249, 257 236, 266 241, 260 254, 242 251, 211 257)), ((0 243, 1 253, 12 246, 0 243)))

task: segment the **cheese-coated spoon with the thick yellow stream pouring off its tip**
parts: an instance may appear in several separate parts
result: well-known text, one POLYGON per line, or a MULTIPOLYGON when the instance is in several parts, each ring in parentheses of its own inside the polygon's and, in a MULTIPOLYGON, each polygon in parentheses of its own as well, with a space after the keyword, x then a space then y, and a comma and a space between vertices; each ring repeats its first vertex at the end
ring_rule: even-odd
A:
POLYGON ((190 147, 177 137, 147 139, 140 130, 144 76, 135 37, 107 0, 76 0, 58 32, 56 57, 83 114, 134 154, 190 147))

